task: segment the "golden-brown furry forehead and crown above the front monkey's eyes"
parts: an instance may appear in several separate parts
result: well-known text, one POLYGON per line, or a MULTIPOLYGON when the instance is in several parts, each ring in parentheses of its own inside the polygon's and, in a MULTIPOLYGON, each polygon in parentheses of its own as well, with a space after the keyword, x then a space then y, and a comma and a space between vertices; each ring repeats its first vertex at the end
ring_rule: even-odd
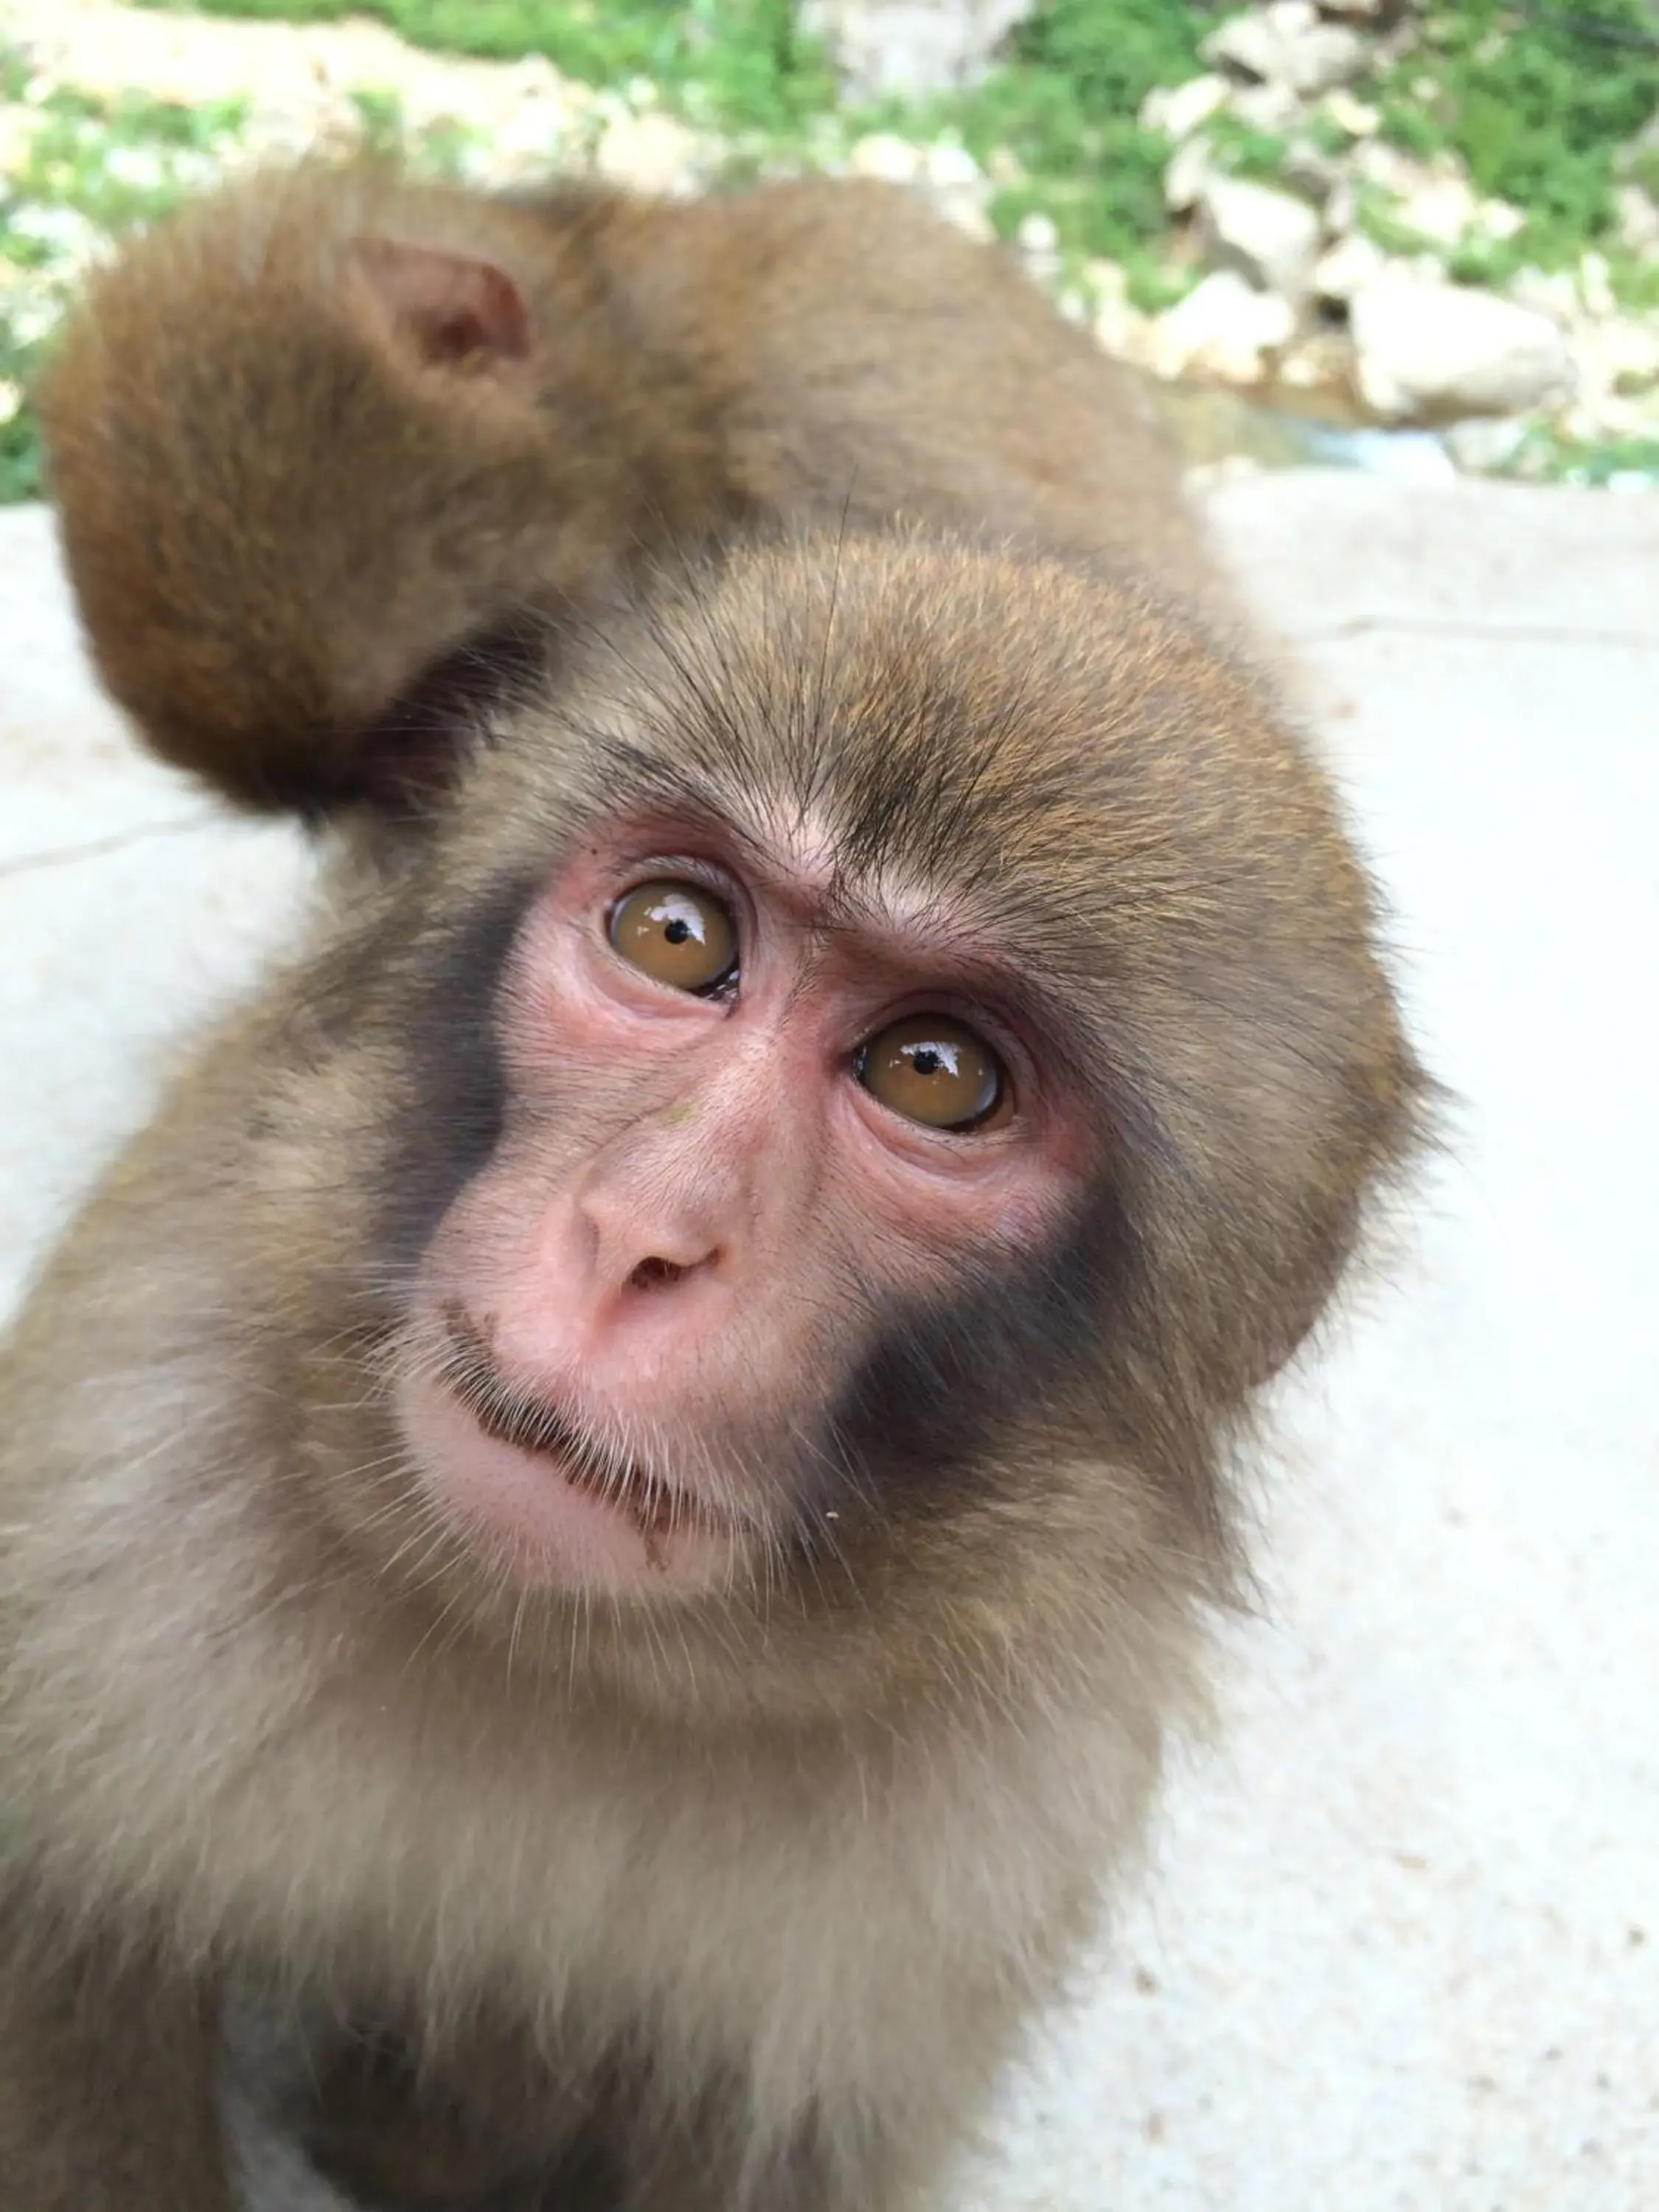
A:
POLYGON ((524 703, 478 849, 535 865, 619 810, 723 825, 845 918, 931 916, 1029 960, 1239 931, 1352 885, 1261 686, 1137 586, 907 538, 752 551, 524 703), (1336 869, 1340 876, 1340 869, 1336 869))

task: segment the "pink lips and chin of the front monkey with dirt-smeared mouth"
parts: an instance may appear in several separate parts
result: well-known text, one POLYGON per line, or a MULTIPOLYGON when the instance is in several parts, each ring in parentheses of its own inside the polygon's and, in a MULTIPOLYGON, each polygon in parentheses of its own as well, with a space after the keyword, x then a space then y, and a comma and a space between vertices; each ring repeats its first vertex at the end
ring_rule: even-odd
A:
POLYGON ((518 1582, 615 1595, 719 1575, 734 1526, 659 1475, 582 1440, 557 1407, 509 1389, 453 1340, 436 1376, 398 1385, 398 1420, 447 1515, 518 1582))

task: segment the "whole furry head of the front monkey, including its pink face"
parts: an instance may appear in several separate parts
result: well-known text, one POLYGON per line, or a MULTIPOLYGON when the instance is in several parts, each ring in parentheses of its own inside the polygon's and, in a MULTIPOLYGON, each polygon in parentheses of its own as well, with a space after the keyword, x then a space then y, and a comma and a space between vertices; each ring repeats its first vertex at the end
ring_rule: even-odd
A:
POLYGON ((1250 675, 1051 560, 759 549, 420 838, 270 1106, 312 1464, 392 1582, 759 1701, 1225 1584, 1239 1420, 1418 1099, 1250 675))

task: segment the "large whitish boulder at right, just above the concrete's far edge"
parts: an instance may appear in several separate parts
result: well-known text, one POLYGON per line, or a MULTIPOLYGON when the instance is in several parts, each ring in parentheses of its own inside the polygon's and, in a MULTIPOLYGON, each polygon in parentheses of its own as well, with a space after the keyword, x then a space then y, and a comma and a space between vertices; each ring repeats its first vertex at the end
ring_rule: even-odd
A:
POLYGON ((1349 310, 1360 398, 1376 414, 1517 414, 1571 392, 1557 323, 1489 292, 1389 270, 1349 310))

